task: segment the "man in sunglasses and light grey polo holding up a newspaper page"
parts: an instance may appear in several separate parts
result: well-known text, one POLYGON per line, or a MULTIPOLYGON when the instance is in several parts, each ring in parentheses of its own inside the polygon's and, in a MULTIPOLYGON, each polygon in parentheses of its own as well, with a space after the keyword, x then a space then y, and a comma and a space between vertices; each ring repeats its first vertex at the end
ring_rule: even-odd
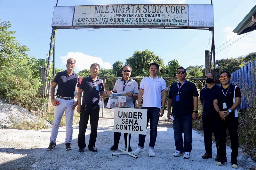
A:
MULTIPOLYGON (((138 83, 130 77, 132 74, 132 67, 129 65, 125 65, 122 68, 122 74, 123 74, 123 78, 116 80, 113 90, 110 90, 110 91, 105 90, 103 94, 110 96, 111 93, 125 92, 124 95, 126 96, 126 107, 134 108, 134 100, 138 98, 139 89, 138 89, 138 83)), ((132 152, 132 148, 130 146, 131 136, 132 134, 130 134, 130 137, 129 137, 130 138, 129 146, 128 146, 129 152, 132 152)), ((114 145, 110 148, 111 151, 116 151, 118 149, 120 137, 121 137, 120 132, 114 132, 114 145)), ((124 133, 124 142, 125 142, 125 150, 126 150, 127 133, 124 133)))

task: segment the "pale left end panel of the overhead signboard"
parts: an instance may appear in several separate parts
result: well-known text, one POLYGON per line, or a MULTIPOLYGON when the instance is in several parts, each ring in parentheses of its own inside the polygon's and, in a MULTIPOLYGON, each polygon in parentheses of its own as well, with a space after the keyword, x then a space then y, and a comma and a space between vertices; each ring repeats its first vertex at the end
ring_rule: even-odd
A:
POLYGON ((70 27, 72 26, 75 6, 55 6, 52 27, 70 27))

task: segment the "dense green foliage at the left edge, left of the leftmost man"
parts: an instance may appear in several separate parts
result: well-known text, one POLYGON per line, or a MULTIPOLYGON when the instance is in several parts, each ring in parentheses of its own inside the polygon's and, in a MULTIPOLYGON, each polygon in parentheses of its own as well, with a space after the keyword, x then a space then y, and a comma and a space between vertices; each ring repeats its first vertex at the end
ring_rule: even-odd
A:
POLYGON ((8 31, 10 27, 9 21, 0 23, 0 98, 30 112, 43 113, 47 101, 38 97, 38 88, 40 69, 46 62, 29 57, 28 47, 16 40, 15 32, 8 31))

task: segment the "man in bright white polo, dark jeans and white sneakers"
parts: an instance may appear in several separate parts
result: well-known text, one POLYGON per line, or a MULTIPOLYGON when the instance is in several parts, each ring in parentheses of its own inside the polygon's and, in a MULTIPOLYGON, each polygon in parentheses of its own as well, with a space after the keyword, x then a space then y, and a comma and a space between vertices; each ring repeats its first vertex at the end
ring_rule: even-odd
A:
MULTIPOLYGON (((138 95, 138 108, 143 97, 142 109, 148 110, 147 126, 150 120, 150 142, 148 154, 150 157, 155 157, 154 152, 157 124, 159 117, 164 115, 164 105, 166 101, 166 83, 163 78, 159 78, 157 73, 159 71, 159 65, 157 63, 151 63, 148 69, 150 76, 143 78, 140 82, 140 91, 138 95), (162 94, 162 98, 161 98, 162 94)), ((144 143, 146 135, 139 135, 139 146, 136 151, 132 152, 134 155, 144 154, 144 143)))

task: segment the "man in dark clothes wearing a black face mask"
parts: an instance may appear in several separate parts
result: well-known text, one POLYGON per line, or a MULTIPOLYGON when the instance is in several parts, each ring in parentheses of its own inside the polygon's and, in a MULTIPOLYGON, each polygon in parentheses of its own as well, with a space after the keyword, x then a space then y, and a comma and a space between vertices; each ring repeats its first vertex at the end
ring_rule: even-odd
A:
POLYGON ((205 75, 206 86, 200 91, 200 104, 203 106, 203 129, 204 129, 204 148, 205 154, 202 156, 203 159, 212 158, 212 132, 216 141, 217 156, 216 161, 220 160, 218 155, 219 148, 219 134, 217 125, 220 123, 220 116, 213 106, 214 91, 218 88, 214 84, 214 75, 207 73, 205 75))

